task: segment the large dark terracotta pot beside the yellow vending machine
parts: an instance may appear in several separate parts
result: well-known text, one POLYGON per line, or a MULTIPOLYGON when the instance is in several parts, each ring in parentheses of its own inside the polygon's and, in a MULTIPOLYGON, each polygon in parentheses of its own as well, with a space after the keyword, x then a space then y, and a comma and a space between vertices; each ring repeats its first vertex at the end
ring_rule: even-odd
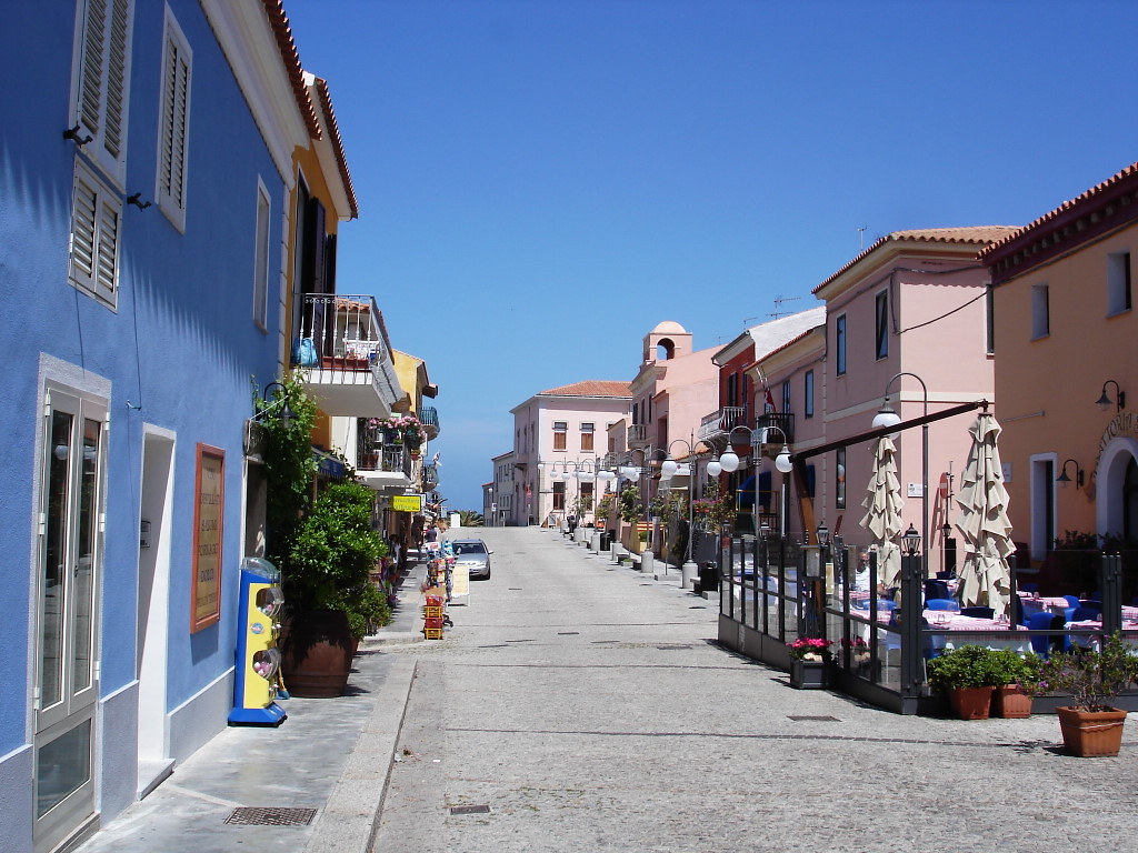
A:
POLYGON ((355 640, 346 613, 296 613, 281 626, 281 674, 292 696, 341 696, 352 672, 355 640))

